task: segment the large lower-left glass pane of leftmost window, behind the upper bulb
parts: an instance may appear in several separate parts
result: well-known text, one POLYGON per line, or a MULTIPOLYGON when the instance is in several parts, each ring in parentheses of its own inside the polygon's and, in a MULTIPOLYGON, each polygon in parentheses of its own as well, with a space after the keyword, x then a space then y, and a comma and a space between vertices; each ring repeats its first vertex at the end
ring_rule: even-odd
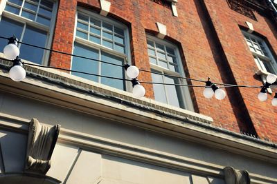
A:
MULTIPOLYGON (((7 19, 6 17, 2 17, 0 22, 0 35, 2 37, 12 37, 12 34, 15 34, 15 37, 17 39, 20 39, 21 33, 24 28, 23 23, 18 23, 17 21, 13 21, 11 19, 7 19)), ((1 40, 0 41, 0 52, 3 52, 3 48, 8 44, 7 40, 1 40)))

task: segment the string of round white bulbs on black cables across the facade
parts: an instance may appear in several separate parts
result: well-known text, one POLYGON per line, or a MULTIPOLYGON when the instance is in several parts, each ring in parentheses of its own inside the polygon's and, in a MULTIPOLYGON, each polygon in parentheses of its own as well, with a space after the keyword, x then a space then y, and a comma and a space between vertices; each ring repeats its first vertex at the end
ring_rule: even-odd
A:
MULTIPOLYGON (((170 75, 170 74, 161 74, 159 72, 152 72, 152 71, 148 71, 148 70, 142 70, 142 69, 137 68, 134 65, 128 65, 128 64, 118 65, 118 64, 114 64, 114 63, 109 63, 107 61, 100 61, 98 59, 91 59, 91 58, 88 58, 88 57, 82 57, 82 56, 78 56, 78 55, 74 55, 74 54, 69 54, 69 53, 66 53, 66 52, 60 52, 60 51, 57 51, 57 50, 42 48, 42 47, 39 47, 39 46, 36 46, 36 45, 19 42, 18 39, 15 37, 15 35, 13 37, 10 37, 10 38, 6 38, 6 37, 0 37, 0 38, 1 39, 8 39, 8 45, 6 45, 6 47, 4 48, 4 55, 8 60, 7 59, 4 59, 4 60, 13 62, 12 68, 10 69, 10 78, 13 81, 22 81, 25 78, 26 71, 23 68, 23 64, 26 64, 26 65, 35 65, 35 66, 39 66, 39 67, 42 67, 42 68, 53 68, 53 69, 59 69, 59 70, 66 70, 66 71, 69 71, 69 72, 78 72, 78 73, 89 74, 89 75, 93 75, 93 76, 101 76, 101 77, 106 77, 106 78, 109 78, 109 79, 131 81, 132 85, 133 85, 133 96, 137 97, 137 98, 141 98, 142 96, 145 95, 145 88, 143 88, 141 83, 152 83, 152 84, 161 84, 161 85, 176 85, 176 86, 179 85, 179 86, 190 86, 190 87, 205 88, 204 91, 203 91, 203 94, 204 94, 205 98, 211 99, 213 96, 215 96, 215 99, 218 99, 218 100, 224 99, 225 96, 226 96, 226 92, 224 90, 220 89, 219 86, 217 86, 217 85, 222 85, 222 86, 220 86, 221 88, 231 88, 231 87, 261 88, 260 93, 258 94, 258 99, 260 101, 266 101, 267 100, 267 88, 277 88, 275 85, 271 85, 277 79, 277 76, 274 75, 274 74, 268 74, 267 75, 267 83, 263 86, 212 83, 209 78, 208 78, 208 81, 202 81, 202 80, 199 80, 199 79, 191 79, 191 78, 182 77, 182 76, 174 76, 174 75, 170 75), (107 64, 111 64, 111 65, 124 67, 125 70, 126 70, 127 76, 132 80, 120 79, 120 78, 111 77, 111 76, 102 76, 102 75, 98 75, 98 74, 91 74, 91 73, 87 73, 87 72, 68 70, 68 69, 64 69, 64 68, 56 68, 56 67, 50 67, 50 66, 44 66, 44 65, 36 65, 36 64, 33 64, 33 63, 24 63, 19 58, 19 49, 17 47, 18 43, 33 46, 35 48, 41 48, 41 49, 44 49, 44 50, 49 50, 51 52, 58 52, 60 54, 71 55, 73 57, 80 57, 82 59, 100 61, 102 63, 107 63, 107 64), (182 85, 182 84, 175 84, 175 83, 154 83, 154 82, 145 82, 145 81, 139 82, 136 79, 136 77, 139 76, 139 71, 151 72, 151 73, 155 73, 155 74, 157 73, 157 74, 160 74, 160 75, 176 77, 176 78, 179 78, 179 79, 188 79, 190 81, 204 82, 204 83, 206 83, 206 85, 182 85), (271 85, 271 87, 270 87, 270 85, 271 85)), ((271 101, 271 104, 274 105, 274 106, 277 106, 277 94, 275 94, 274 99, 272 99, 272 101, 271 101)))

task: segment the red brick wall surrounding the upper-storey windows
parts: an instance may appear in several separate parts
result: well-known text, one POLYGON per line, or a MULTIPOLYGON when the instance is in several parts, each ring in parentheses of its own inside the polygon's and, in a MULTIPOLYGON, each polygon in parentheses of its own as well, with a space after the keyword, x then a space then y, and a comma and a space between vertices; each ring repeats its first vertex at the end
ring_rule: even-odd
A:
MULTIPOLYGON (((274 25, 269 25, 269 21, 259 14, 256 14, 258 22, 255 22, 230 10, 225 0, 178 1, 179 17, 173 17, 170 9, 150 0, 110 2, 108 17, 114 17, 129 25, 132 63, 141 69, 150 70, 145 30, 158 32, 156 22, 167 26, 166 39, 179 45, 186 75, 195 79, 206 80, 209 76, 211 80, 219 83, 262 85, 255 76, 258 68, 238 27, 245 21, 252 22, 254 29, 267 37, 275 50, 277 48, 272 32, 274 25), (213 25, 209 23, 207 12, 213 25)), ((78 4, 91 10, 100 10, 100 3, 96 0, 82 0, 78 1, 78 4)), ((60 1, 53 49, 72 52, 76 7, 76 1, 60 1)), ((71 57, 52 54, 50 65, 70 68, 71 57)), ((151 75, 141 72, 139 80, 151 81, 151 75)), ((195 81, 191 83, 203 85, 195 81)), ((153 98, 152 85, 144 86, 146 96, 153 98)), ((277 108, 272 108, 269 100, 265 103, 258 101, 256 96, 259 90, 228 89, 223 101, 217 101, 215 98, 205 99, 202 91, 203 88, 190 88, 195 110, 213 117, 213 125, 234 132, 251 132, 254 126, 263 139, 277 141, 277 108)), ((269 96, 270 98, 272 96, 269 96)))

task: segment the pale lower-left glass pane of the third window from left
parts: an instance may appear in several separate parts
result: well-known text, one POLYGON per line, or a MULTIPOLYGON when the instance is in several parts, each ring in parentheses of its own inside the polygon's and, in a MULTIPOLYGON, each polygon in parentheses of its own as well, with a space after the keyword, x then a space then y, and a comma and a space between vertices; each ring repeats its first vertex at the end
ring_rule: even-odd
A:
MULTIPOLYGON (((157 72, 152 70, 152 72, 157 72)), ((153 83, 163 83, 163 76, 159 74, 151 74, 153 83)), ((154 97, 156 101, 167 103, 166 101, 166 91, 164 85, 162 84, 153 84, 154 97)))

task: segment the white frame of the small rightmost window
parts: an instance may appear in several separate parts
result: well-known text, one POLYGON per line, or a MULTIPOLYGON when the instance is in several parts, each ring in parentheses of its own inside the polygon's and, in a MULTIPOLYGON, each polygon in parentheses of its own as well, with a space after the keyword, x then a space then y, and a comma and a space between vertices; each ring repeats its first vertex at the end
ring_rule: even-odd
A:
MULTIPOLYGON (((268 54, 268 57, 267 57, 265 55, 259 54, 258 52, 251 51, 250 46, 247 43, 247 46, 248 46, 250 52, 252 53, 253 57, 257 58, 257 59, 254 59, 254 61, 256 62, 258 69, 260 71, 262 71, 263 73, 271 73, 271 71, 267 71, 264 63, 262 63, 262 61, 260 61, 260 59, 262 59, 262 60, 268 62, 273 70, 272 72, 274 72, 274 74, 277 74, 277 63, 276 63, 276 60, 274 59, 271 51, 269 50, 267 43, 265 43, 265 41, 263 39, 261 39, 260 37, 257 37, 254 34, 250 34, 249 32, 242 31, 242 34, 244 34, 244 39, 246 42, 247 42, 247 38, 245 36, 250 37, 251 39, 256 39, 257 41, 260 41, 260 43, 262 43, 263 48, 265 48, 265 52, 267 52, 267 54, 268 54)), ((256 42, 253 42, 251 40, 251 43, 253 44, 256 42)), ((260 45, 260 44, 258 44, 258 45, 260 45)), ((256 49, 254 49, 254 50, 256 50, 256 49)))

